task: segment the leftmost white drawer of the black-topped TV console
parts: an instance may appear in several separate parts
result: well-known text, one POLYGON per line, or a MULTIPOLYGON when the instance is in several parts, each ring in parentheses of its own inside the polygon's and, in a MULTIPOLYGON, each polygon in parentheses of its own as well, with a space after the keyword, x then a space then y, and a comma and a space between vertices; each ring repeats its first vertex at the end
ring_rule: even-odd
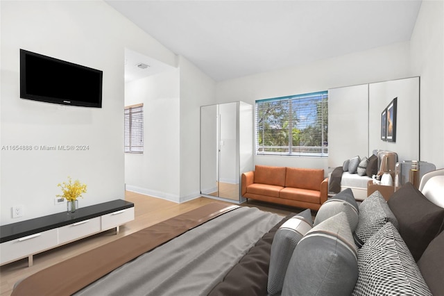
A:
POLYGON ((57 245, 57 229, 24 236, 0 245, 0 264, 50 249, 57 245))

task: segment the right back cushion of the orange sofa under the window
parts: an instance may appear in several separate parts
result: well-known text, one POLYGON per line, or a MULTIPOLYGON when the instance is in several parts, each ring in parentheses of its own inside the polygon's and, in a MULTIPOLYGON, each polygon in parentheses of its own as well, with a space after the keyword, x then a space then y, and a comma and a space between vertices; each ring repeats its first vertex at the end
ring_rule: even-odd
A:
POLYGON ((321 191, 324 170, 287 167, 285 187, 321 191))

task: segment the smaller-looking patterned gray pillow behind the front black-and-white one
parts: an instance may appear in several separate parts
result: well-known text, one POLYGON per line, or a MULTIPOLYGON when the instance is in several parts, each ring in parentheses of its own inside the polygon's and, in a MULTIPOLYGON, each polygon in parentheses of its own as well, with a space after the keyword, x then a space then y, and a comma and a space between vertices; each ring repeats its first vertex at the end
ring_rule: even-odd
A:
POLYGON ((373 192, 359 205, 359 221, 355 230, 355 242, 359 247, 387 222, 398 229, 398 220, 379 191, 373 192))

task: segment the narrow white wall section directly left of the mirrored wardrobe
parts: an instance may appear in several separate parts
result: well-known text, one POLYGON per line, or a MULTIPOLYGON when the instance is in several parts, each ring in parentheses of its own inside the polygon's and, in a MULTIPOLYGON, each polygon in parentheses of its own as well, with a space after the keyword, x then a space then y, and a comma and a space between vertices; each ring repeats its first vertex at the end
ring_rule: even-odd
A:
POLYGON ((216 103, 216 82, 183 56, 180 67, 180 202, 200 196, 200 106, 216 103))

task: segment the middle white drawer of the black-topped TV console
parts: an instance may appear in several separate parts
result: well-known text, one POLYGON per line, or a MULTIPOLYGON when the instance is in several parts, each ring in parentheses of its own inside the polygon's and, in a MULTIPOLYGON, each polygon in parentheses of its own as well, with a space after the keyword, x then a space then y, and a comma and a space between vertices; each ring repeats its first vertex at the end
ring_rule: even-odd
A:
POLYGON ((89 236, 100 231, 100 217, 83 220, 69 224, 58 229, 58 242, 60 244, 89 236))

